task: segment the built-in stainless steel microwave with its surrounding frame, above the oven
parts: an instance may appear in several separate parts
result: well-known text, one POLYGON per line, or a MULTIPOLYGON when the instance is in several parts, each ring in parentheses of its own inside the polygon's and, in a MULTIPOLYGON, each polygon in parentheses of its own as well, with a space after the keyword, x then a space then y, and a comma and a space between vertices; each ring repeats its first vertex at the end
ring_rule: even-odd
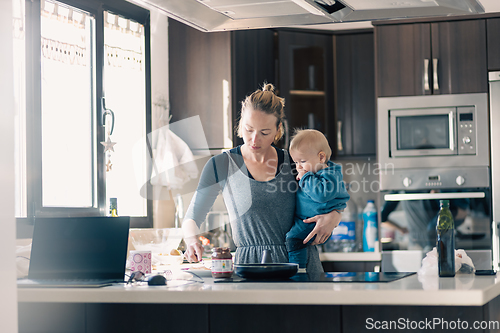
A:
POLYGON ((377 155, 395 168, 488 166, 487 94, 384 97, 377 155))

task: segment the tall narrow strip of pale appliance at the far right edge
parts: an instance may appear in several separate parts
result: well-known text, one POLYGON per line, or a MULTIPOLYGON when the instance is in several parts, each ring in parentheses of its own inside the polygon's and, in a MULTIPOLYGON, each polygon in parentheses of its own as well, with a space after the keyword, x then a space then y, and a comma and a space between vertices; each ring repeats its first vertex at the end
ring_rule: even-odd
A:
POLYGON ((499 223, 500 223, 500 72, 489 73, 490 80, 490 142, 491 142, 491 193, 493 264, 500 269, 499 223))

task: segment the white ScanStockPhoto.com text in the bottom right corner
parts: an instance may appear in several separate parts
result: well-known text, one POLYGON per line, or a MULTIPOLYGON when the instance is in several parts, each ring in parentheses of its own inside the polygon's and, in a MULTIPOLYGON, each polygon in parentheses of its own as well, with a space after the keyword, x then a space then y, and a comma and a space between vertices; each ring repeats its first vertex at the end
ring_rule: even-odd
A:
POLYGON ((424 320, 412 320, 409 318, 398 318, 397 320, 376 320, 366 318, 365 328, 374 331, 385 330, 462 330, 470 332, 472 330, 498 330, 500 322, 497 320, 476 320, 469 322, 467 320, 447 320, 444 318, 425 318, 424 320))

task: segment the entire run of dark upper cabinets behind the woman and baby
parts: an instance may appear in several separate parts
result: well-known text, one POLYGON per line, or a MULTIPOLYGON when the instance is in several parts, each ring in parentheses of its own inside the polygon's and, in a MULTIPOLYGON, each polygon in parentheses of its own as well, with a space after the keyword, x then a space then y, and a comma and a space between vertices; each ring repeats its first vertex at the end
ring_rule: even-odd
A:
POLYGON ((209 147, 224 147, 226 116, 233 144, 242 143, 233 130, 241 102, 268 82, 285 98, 288 135, 279 146, 288 148, 293 129, 314 128, 332 158, 375 155, 372 31, 203 33, 172 20, 169 37, 171 121, 199 116, 209 147))

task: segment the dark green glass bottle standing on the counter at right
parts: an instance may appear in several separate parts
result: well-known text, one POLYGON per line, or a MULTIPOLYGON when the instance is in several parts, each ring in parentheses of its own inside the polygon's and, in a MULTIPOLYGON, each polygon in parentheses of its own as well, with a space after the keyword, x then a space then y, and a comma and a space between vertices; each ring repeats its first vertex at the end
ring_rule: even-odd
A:
POLYGON ((450 211, 450 201, 440 200, 436 225, 439 276, 455 276, 455 223, 450 211))

